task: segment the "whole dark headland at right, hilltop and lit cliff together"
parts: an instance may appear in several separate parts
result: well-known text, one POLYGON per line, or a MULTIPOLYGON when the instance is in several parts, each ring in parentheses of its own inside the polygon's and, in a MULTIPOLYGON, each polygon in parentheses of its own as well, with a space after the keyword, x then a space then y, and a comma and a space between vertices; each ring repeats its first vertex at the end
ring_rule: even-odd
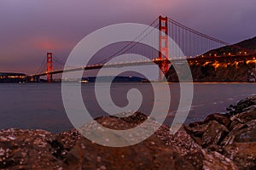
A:
MULTIPOLYGON (((234 45, 212 49, 202 55, 205 56, 204 59, 199 56, 198 59, 189 60, 194 82, 256 82, 256 57, 246 57, 247 54, 256 56, 256 37, 234 45), (221 56, 221 58, 214 59, 215 55, 221 56), (213 58, 207 59, 207 56, 213 58), (240 57, 234 58, 233 56, 240 57)), ((180 75, 185 79, 184 65, 172 64, 176 68, 180 68, 180 75)), ((177 72, 173 66, 166 74, 166 78, 168 82, 178 82, 177 72)))

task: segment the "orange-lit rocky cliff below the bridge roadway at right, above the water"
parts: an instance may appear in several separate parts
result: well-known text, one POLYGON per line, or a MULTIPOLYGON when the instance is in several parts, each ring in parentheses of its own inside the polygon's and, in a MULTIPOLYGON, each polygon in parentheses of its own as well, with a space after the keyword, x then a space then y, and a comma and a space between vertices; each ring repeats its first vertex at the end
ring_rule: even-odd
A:
MULTIPOLYGON (((194 82, 256 82, 256 59, 253 60, 193 60, 189 61, 194 82)), ((183 79, 184 65, 175 65, 183 79)), ((166 74, 168 82, 178 82, 173 66, 166 74)))

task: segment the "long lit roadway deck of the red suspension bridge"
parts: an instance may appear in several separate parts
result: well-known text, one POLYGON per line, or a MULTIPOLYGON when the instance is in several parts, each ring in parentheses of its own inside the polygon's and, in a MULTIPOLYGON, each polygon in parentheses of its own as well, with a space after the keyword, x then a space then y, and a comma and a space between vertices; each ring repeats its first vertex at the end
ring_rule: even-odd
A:
MULTIPOLYGON (((230 61, 230 60, 254 60, 256 59, 256 55, 255 54, 241 54, 241 55, 226 55, 226 56, 207 56, 207 57, 203 57, 203 56, 199 56, 199 57, 195 57, 195 58, 187 58, 188 61, 230 61)), ((136 65, 152 65, 152 62, 154 62, 156 65, 160 65, 161 62, 167 61, 170 64, 172 64, 172 62, 178 63, 183 61, 183 59, 171 59, 169 60, 160 60, 160 59, 153 59, 152 61, 149 60, 141 60, 141 61, 135 61, 135 62, 131 62, 131 63, 114 63, 114 64, 108 64, 108 65, 88 65, 85 67, 77 67, 77 68, 70 68, 67 70, 59 70, 59 71, 51 71, 51 72, 43 72, 43 73, 39 73, 39 74, 34 74, 30 77, 43 77, 46 76, 47 74, 60 74, 63 72, 72 72, 72 71, 88 71, 88 70, 95 70, 95 69, 101 69, 103 66, 105 68, 118 68, 118 67, 125 67, 125 66, 136 66, 136 65)))

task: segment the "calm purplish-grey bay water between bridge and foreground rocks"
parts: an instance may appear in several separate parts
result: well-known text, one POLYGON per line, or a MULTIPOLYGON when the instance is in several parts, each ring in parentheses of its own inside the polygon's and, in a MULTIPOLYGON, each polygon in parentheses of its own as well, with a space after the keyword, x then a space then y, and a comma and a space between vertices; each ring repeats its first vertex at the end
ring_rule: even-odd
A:
MULTIPOLYGON (((166 124, 170 124, 177 109, 178 87, 178 83, 170 83, 172 103, 166 124)), ((194 100, 186 123, 203 120, 213 112, 224 112, 229 105, 256 94, 255 87, 255 83, 195 83, 194 100)), ((113 83, 111 94, 115 104, 127 105, 126 92, 131 88, 141 91, 143 104, 140 111, 149 113, 154 105, 150 83, 113 83)), ((96 103, 93 83, 83 84, 81 91, 92 116, 106 115, 96 103)), ((0 92, 0 129, 41 128, 58 133, 73 127, 62 104, 61 83, 2 83, 0 92)), ((161 102, 164 101, 157 105, 161 102)))

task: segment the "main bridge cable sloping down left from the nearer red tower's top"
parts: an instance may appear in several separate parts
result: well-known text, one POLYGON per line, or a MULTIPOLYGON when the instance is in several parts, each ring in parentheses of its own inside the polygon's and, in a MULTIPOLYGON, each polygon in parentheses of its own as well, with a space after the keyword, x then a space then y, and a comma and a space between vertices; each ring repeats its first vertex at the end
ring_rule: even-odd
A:
MULTIPOLYGON (((97 62, 96 65, 98 64, 102 64, 103 62, 107 61, 108 59, 112 59, 113 57, 115 57, 117 54, 125 54, 128 50, 130 50, 131 48, 133 48, 138 42, 135 42, 139 37, 141 37, 143 35, 144 32, 148 31, 149 28, 151 28, 156 21, 158 20, 158 18, 156 18, 141 34, 139 34, 134 41, 128 43, 127 45, 125 45, 125 47, 121 48, 119 51, 115 52, 114 54, 108 56, 106 59, 102 59, 101 61, 97 62), (133 44, 134 43, 134 44, 133 44), (132 44, 132 45, 131 45, 132 44), (129 47, 131 45, 131 48, 128 48, 125 50, 125 48, 129 47), (124 51, 125 50, 125 51, 124 51), (123 53, 121 53, 122 51, 124 51, 123 53)), ((155 28, 156 26, 154 26, 155 28)), ((149 32, 150 33, 150 32, 149 32)), ((148 33, 148 34, 149 34, 148 33)), ((142 41, 142 39, 140 40, 142 41)))

